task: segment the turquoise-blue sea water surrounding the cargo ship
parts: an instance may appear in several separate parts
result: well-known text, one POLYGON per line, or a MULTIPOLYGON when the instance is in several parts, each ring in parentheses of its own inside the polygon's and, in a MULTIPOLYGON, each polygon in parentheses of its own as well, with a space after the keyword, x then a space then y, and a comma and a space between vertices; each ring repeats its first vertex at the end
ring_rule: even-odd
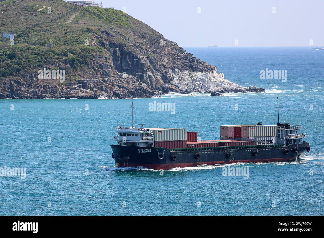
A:
POLYGON ((186 127, 202 139, 218 139, 220 124, 276 123, 279 94, 281 121, 304 126, 311 152, 291 163, 231 165, 249 168, 248 179, 222 176, 224 165, 163 175, 114 168, 109 145, 117 123, 129 124, 131 100, 3 99, 0 167, 26 167, 26 178, 0 176, 0 215, 323 215, 324 51, 186 50, 217 65, 226 79, 267 92, 135 99, 137 123, 186 127), (261 80, 265 68, 287 70, 287 82, 261 80), (176 113, 149 111, 154 100, 175 103, 176 113))

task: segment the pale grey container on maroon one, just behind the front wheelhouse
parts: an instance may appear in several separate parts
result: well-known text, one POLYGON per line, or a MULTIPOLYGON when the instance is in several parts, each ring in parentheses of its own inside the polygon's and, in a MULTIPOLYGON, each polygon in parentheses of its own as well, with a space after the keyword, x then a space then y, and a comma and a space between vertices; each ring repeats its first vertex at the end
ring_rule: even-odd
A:
POLYGON ((187 129, 176 128, 145 128, 150 129, 155 141, 186 141, 187 129))

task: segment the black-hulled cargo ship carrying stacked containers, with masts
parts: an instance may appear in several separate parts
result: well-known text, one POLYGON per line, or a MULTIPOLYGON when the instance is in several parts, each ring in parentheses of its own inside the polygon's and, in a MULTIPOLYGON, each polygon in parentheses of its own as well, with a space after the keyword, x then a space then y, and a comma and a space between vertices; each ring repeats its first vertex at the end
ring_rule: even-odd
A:
MULTIPOLYGON (((300 125, 221 125, 220 140, 202 140, 197 131, 185 128, 145 128, 145 124, 117 126, 111 145, 116 167, 168 170, 201 164, 237 162, 290 162, 310 151, 300 125)), ((278 101, 279 112, 279 101, 278 101)))

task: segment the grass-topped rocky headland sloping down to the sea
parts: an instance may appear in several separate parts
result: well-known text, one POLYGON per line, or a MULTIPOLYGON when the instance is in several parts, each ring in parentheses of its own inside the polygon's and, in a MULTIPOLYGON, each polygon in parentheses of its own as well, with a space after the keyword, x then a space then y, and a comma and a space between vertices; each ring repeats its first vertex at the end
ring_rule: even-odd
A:
POLYGON ((6 0, 0 12, 16 15, 0 25, 16 32, 14 45, 0 41, 0 98, 264 91, 226 80, 216 66, 122 11, 62 0, 6 0), (64 71, 64 80, 40 77, 43 68, 64 71))

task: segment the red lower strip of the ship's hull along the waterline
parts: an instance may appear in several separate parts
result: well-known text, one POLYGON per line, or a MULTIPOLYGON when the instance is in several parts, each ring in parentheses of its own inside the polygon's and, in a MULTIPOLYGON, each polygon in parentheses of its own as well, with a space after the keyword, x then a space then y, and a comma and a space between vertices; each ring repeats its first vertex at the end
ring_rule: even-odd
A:
POLYGON ((255 159, 255 160, 239 160, 239 161, 212 161, 212 162, 195 162, 195 163, 179 163, 179 164, 132 164, 132 163, 116 163, 116 167, 145 167, 156 170, 168 170, 172 168, 195 167, 197 165, 215 165, 215 164, 233 164, 233 163, 260 163, 260 162, 291 162, 296 160, 293 158, 273 158, 273 159, 255 159))

